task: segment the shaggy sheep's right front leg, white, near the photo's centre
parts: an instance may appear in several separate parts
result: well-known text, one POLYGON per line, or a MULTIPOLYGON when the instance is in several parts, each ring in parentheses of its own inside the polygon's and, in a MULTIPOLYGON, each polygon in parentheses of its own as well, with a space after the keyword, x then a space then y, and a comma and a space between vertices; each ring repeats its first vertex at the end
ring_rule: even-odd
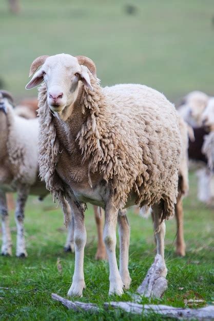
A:
POLYGON ((109 295, 123 294, 123 282, 116 263, 116 221, 118 210, 109 202, 105 208, 104 242, 109 262, 109 295))

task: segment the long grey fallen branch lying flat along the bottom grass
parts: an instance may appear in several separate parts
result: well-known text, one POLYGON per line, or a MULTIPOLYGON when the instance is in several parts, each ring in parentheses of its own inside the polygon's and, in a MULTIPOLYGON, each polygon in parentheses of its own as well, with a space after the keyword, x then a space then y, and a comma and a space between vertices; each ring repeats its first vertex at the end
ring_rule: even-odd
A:
MULTIPOLYGON (((60 295, 52 293, 51 297, 61 302, 68 309, 74 311, 90 311, 90 312, 99 312, 99 307, 96 304, 92 303, 82 303, 82 302, 72 302, 67 300, 60 295)), ((184 309, 184 308, 174 308, 164 305, 152 305, 152 304, 137 304, 132 302, 110 302, 104 303, 104 308, 108 309, 109 307, 113 309, 122 309, 129 313, 134 314, 143 314, 149 315, 151 313, 161 314, 167 317, 174 317, 177 319, 193 319, 197 320, 214 320, 214 306, 208 306, 201 309, 184 309)))

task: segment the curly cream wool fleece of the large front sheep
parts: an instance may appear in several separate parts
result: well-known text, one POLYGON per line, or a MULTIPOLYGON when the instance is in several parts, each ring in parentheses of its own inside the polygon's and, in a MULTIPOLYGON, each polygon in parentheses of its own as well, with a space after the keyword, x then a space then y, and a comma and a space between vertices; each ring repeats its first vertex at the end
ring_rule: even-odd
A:
MULTIPOLYGON (((181 153, 175 108, 164 95, 146 86, 102 88, 91 74, 90 81, 93 91, 84 87, 81 100, 82 112, 88 111, 87 121, 76 137, 82 166, 88 164, 89 183, 90 173, 99 172, 119 208, 125 206, 133 191, 139 206, 152 206, 163 199, 163 219, 167 218, 176 203, 181 153), (135 97, 140 97, 139 104, 135 97)), ((65 196, 64 183, 55 167, 60 146, 46 98, 44 84, 38 95, 40 174, 46 187, 60 199, 65 196)))

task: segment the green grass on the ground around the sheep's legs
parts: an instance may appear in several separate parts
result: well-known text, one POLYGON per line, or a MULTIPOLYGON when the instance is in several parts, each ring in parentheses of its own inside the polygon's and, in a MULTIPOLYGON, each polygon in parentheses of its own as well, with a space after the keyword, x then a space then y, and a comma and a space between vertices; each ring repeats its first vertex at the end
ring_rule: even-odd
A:
MULTIPOLYGON (((206 208, 196 200, 196 177, 190 177, 190 194, 184 200, 185 239, 187 254, 185 258, 174 253, 176 222, 166 223, 166 264, 168 267, 168 290, 154 303, 185 307, 185 300, 202 299, 204 302, 194 307, 211 304, 214 300, 214 244, 213 209, 206 208)), ((63 216, 60 209, 53 207, 51 198, 39 203, 30 197, 26 208, 26 240, 28 257, 26 259, 0 257, 1 320, 68 320, 68 319, 123 319, 129 315, 124 312, 106 312, 102 305, 111 300, 131 300, 146 275, 154 258, 154 243, 151 219, 144 219, 129 212, 131 226, 129 270, 132 278, 130 290, 121 298, 108 297, 108 263, 94 260, 96 251, 96 232, 92 208, 86 212, 87 245, 85 249, 85 281, 82 302, 93 302, 100 306, 99 315, 86 312, 76 313, 67 310, 51 299, 51 293, 66 297, 74 269, 74 254, 64 253, 66 231, 62 229, 63 216), (62 273, 57 270, 56 261, 60 258, 62 273)), ((12 220, 11 227, 15 223, 12 220)), ((13 254, 15 252, 15 231, 13 229, 13 254)), ((117 246, 118 247, 118 246, 117 246)), ((143 299, 142 303, 148 303, 143 299)), ((187 303, 187 306, 188 303, 187 303)), ((133 320, 146 320, 148 317, 131 316, 133 320)), ((151 316, 151 320, 161 319, 151 316)))

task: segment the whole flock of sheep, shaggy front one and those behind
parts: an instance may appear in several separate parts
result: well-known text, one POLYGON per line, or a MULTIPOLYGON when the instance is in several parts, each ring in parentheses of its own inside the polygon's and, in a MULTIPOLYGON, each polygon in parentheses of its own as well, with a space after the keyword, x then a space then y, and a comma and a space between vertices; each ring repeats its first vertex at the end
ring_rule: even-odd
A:
MULTIPOLYGON (((188 153, 189 158, 204 164, 199 197, 211 202, 214 98, 192 92, 184 97, 178 112, 163 94, 146 86, 101 87, 94 62, 69 54, 36 58, 30 76, 26 89, 41 84, 38 117, 30 108, 14 108, 11 95, 0 92, 2 254, 12 254, 6 193, 17 192, 16 255, 27 256, 27 197, 34 194, 44 198, 50 191, 60 202, 68 227, 65 248, 75 250, 68 295, 82 296, 84 211, 86 203, 91 203, 99 236, 96 258, 105 258, 107 252, 109 294, 121 295, 131 283, 126 208, 136 205, 144 214, 151 209, 157 253, 164 263, 165 220, 174 213, 177 253, 185 255, 182 198, 188 192, 188 153), (104 231, 98 207, 105 210, 104 231), (117 223, 119 268, 115 254, 117 223)), ((162 276, 166 274, 164 263, 162 276)))

